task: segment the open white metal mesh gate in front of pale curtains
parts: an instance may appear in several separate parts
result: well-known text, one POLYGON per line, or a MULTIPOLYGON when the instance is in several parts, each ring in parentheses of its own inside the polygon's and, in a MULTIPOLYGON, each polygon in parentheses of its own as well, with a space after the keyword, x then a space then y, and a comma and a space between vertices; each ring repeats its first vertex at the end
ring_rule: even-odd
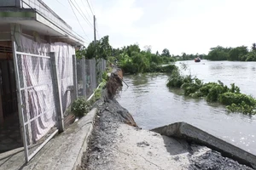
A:
POLYGON ((26 162, 53 138, 57 129, 55 83, 49 56, 16 51, 14 62, 20 128, 26 162))

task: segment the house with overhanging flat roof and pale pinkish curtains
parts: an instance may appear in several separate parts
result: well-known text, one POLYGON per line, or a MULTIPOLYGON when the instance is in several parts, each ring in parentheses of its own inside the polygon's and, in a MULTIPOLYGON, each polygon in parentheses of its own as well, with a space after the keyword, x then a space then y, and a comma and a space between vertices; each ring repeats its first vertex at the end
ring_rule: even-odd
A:
POLYGON ((57 132, 73 98, 73 56, 82 45, 42 0, 0 1, 0 153, 24 146, 29 161, 40 149, 34 145, 57 132))

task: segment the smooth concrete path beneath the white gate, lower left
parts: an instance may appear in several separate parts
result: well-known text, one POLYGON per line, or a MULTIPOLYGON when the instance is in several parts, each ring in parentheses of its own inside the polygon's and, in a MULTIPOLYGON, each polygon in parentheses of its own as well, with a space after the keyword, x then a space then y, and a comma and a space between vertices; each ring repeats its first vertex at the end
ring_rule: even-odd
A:
POLYGON ((51 139, 26 165, 24 151, 12 150, 0 155, 1 170, 72 170, 81 163, 83 152, 93 129, 96 109, 91 110, 78 122, 73 123, 64 133, 51 139))

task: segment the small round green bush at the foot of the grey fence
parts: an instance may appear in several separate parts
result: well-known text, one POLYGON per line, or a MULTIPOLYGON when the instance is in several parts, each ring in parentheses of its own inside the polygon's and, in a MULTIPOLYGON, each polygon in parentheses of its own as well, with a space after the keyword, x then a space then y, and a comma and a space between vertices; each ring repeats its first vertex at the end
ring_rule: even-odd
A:
POLYGON ((90 111, 90 102, 84 98, 76 99, 71 106, 71 111, 75 116, 81 118, 90 111))

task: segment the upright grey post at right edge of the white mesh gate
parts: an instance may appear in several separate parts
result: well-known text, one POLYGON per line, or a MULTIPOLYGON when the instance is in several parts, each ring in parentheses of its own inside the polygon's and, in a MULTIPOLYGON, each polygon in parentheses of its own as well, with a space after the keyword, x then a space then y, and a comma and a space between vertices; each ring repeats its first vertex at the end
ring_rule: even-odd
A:
POLYGON ((61 93, 59 87, 59 79, 58 79, 58 65, 56 65, 55 60, 55 53, 49 53, 50 57, 50 65, 52 71, 52 79, 53 79, 53 89, 54 89, 54 96, 55 96, 55 111, 57 115, 57 126, 59 132, 64 131, 64 121, 63 121, 63 111, 62 111, 62 103, 61 103, 61 93))

